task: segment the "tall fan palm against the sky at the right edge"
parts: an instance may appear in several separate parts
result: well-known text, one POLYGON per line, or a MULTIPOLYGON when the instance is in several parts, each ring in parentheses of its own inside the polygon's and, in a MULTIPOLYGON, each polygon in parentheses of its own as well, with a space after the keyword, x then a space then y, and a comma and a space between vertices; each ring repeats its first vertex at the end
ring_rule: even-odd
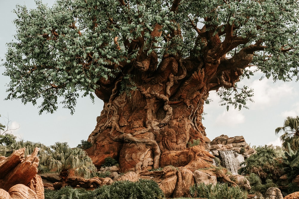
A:
POLYGON ((277 127, 275 134, 283 132, 280 136, 283 148, 288 151, 288 143, 291 149, 297 150, 299 148, 299 117, 287 117, 284 121, 283 127, 277 127))

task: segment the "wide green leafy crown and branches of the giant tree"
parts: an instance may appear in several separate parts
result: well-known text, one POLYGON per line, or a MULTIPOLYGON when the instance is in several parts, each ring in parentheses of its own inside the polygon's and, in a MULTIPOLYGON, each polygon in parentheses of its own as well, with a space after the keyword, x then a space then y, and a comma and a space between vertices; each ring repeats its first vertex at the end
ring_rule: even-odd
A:
MULTIPOLYGON (((205 72, 209 91, 235 90, 239 76, 252 75, 245 69, 250 66, 274 81, 299 78, 296 0, 58 0, 53 7, 36 0, 36 5, 16 7, 17 33, 8 44, 4 75, 11 78, 7 99, 36 104, 42 98, 40 112, 56 110, 59 97, 73 112, 79 91, 108 101, 116 83, 120 92, 136 88, 133 66, 150 73, 167 56, 197 60, 189 70, 205 72)), ((237 107, 249 95, 247 87, 242 90, 246 94, 235 99, 228 97, 231 91, 219 95, 237 107)))

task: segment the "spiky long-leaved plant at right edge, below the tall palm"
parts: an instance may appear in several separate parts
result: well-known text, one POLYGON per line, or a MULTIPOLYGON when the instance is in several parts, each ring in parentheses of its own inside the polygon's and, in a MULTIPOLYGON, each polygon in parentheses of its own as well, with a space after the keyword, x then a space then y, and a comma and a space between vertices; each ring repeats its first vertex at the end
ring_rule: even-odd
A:
POLYGON ((292 181, 299 175, 299 149, 292 150, 291 144, 288 144, 288 150, 283 155, 283 167, 289 181, 292 181))

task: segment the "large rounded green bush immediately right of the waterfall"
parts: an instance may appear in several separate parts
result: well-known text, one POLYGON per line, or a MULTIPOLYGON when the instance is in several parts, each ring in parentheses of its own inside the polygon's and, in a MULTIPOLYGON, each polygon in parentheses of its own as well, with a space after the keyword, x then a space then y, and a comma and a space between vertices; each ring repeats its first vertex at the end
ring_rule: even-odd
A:
POLYGON ((254 173, 259 176, 262 183, 267 179, 276 181, 281 176, 281 165, 277 161, 279 152, 273 145, 258 146, 256 153, 247 158, 238 170, 241 175, 254 173))

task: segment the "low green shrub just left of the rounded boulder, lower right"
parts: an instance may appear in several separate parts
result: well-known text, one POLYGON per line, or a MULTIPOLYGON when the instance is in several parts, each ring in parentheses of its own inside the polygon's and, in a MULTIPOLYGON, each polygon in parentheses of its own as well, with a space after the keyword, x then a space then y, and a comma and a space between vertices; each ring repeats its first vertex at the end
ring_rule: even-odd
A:
POLYGON ((251 190, 249 194, 262 194, 264 195, 270 187, 277 187, 277 185, 270 179, 267 179, 265 183, 262 183, 260 177, 255 173, 251 173, 246 176, 250 182, 251 190))

